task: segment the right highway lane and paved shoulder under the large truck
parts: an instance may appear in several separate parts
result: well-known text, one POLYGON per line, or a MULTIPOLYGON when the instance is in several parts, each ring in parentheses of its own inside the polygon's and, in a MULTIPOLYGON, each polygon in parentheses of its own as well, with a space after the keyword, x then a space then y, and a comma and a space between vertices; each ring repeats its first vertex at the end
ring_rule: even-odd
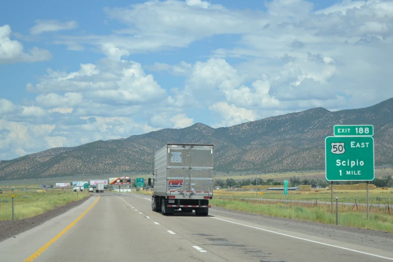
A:
POLYGON ((165 224, 168 228, 173 228, 173 231, 185 239, 198 243, 208 252, 220 255, 228 261, 242 259, 246 261, 345 260, 354 262, 393 260, 392 238, 381 239, 381 241, 388 241, 383 243, 385 248, 382 249, 327 236, 321 237, 316 234, 292 231, 291 228, 282 229, 261 225, 247 221, 247 216, 234 218, 231 212, 218 212, 215 209, 210 210, 209 217, 195 217, 193 214, 181 213, 165 217, 151 211, 149 196, 124 194, 123 198, 143 214, 165 224), (370 254, 375 254, 375 256, 370 254))

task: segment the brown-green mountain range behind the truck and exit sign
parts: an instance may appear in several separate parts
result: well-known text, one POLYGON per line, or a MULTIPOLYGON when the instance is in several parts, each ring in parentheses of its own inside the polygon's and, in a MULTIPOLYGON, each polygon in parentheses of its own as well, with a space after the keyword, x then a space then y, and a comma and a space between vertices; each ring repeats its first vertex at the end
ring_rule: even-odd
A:
POLYGON ((215 145, 219 172, 323 170, 326 136, 335 124, 373 124, 375 165, 393 164, 393 98, 370 107, 329 111, 318 107, 231 127, 196 123, 127 139, 53 148, 0 161, 0 180, 78 174, 151 173, 154 152, 165 143, 215 145))

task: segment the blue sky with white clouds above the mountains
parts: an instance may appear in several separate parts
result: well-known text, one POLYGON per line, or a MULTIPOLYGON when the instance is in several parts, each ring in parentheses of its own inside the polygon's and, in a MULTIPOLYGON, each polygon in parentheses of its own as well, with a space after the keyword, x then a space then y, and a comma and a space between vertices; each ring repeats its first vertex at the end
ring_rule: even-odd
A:
POLYGON ((393 97, 391 1, 3 7, 0 160, 196 122, 231 126, 393 97))

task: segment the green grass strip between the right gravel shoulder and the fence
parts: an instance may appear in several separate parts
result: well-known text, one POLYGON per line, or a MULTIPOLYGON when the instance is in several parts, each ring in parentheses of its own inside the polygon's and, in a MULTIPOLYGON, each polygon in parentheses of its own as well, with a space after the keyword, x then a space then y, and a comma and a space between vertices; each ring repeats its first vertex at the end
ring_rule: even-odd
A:
MULTIPOLYGON (((325 224, 335 224, 335 214, 331 214, 323 206, 305 208, 300 206, 286 207, 283 204, 256 204, 243 201, 229 201, 223 199, 213 199, 210 204, 232 210, 244 211, 249 213, 263 214, 276 217, 285 217, 302 221, 319 222, 325 224)), ((393 215, 370 214, 363 212, 338 212, 338 224, 356 228, 374 229, 385 232, 393 232, 393 215)))

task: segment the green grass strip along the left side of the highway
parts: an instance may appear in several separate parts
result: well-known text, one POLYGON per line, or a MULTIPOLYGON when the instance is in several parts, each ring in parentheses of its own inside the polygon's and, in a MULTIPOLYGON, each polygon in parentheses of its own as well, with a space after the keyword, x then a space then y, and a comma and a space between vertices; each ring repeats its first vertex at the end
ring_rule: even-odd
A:
MULTIPOLYGON (((41 215, 58 206, 84 199, 89 196, 88 192, 76 192, 71 190, 40 190, 38 193, 14 192, 14 218, 25 219, 41 215)), ((0 221, 12 220, 12 193, 0 194, 0 221)))

